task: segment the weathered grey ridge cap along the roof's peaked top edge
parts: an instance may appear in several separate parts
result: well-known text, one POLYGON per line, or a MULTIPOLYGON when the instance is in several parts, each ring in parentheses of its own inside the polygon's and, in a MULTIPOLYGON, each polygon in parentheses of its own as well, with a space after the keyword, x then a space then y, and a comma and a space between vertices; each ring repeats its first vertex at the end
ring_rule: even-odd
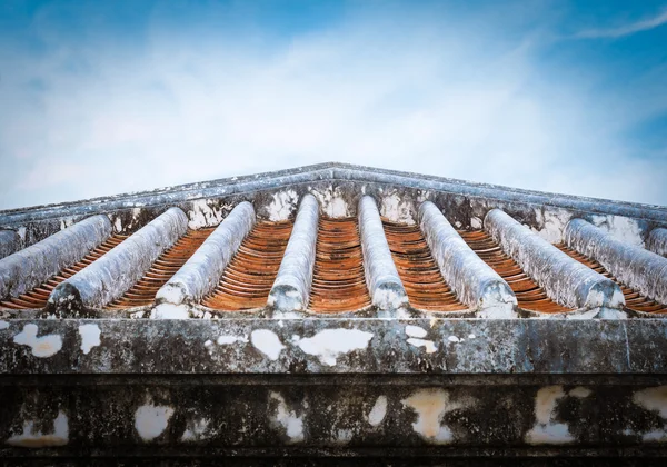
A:
POLYGON ((459 192, 460 195, 470 197, 498 199, 500 201, 518 201, 537 206, 578 209, 593 213, 615 213, 640 219, 667 221, 667 207, 664 206, 552 193, 342 162, 327 162, 257 175, 157 188, 147 191, 9 209, 0 211, 0 225, 10 226, 21 221, 58 218, 63 213, 92 215, 135 207, 169 206, 208 197, 288 188, 291 185, 325 180, 392 183, 412 189, 459 192), (240 189, 233 189, 239 186, 241 186, 240 189), (227 191, 229 188, 231 190, 227 191), (218 189, 222 189, 222 191, 218 191, 218 189), (193 191, 195 193, 192 193, 193 191), (191 193, 191 196, 188 196, 188 193, 191 193), (71 208, 80 208, 80 211, 76 209, 71 211, 71 208))

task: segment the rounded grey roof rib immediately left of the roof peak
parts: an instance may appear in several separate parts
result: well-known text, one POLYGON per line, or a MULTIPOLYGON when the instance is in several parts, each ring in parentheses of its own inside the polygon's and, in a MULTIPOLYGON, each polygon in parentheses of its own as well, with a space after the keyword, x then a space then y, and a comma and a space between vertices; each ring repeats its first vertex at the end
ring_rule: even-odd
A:
POLYGON ((302 311, 308 308, 318 219, 319 203, 312 195, 306 195, 299 206, 280 269, 269 292, 268 305, 275 307, 277 312, 302 311))

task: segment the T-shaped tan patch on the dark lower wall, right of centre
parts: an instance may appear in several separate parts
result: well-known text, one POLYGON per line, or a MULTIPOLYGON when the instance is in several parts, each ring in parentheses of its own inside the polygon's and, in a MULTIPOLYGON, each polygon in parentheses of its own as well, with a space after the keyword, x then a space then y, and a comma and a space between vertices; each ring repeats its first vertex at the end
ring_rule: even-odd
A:
POLYGON ((401 404, 417 414, 417 421, 412 424, 415 433, 435 444, 449 444, 454 440, 454 434, 447 425, 442 425, 442 418, 448 413, 469 405, 468 401, 450 400, 449 393, 440 388, 419 389, 401 400, 401 404))

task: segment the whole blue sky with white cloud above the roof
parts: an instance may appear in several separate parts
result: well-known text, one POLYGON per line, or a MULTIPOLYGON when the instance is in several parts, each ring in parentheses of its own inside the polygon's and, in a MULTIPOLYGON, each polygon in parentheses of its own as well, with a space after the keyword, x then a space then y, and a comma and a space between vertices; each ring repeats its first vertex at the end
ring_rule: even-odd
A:
POLYGON ((667 1, 0 2, 0 209, 326 161, 667 205, 667 1))

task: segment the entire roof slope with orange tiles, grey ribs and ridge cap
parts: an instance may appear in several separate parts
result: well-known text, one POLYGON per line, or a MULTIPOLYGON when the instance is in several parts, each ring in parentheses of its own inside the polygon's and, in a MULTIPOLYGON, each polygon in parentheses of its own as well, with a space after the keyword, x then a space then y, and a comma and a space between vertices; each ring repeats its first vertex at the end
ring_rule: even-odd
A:
POLYGON ((0 212, 0 316, 659 317, 666 227, 663 207, 312 166, 0 212))

